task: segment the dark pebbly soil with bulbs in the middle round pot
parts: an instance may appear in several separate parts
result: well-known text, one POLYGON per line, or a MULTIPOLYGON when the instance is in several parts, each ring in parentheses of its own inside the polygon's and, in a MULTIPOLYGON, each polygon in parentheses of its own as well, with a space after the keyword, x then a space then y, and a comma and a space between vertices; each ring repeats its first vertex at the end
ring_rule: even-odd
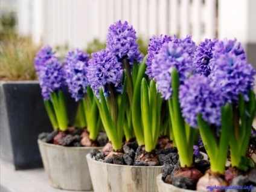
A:
POLYGON ((121 152, 113 152, 112 145, 107 143, 103 150, 91 150, 92 159, 110 164, 136 165, 136 166, 160 166, 168 163, 178 163, 178 150, 174 147, 164 149, 170 142, 161 139, 161 149, 153 150, 151 153, 139 147, 136 141, 124 143, 121 152))

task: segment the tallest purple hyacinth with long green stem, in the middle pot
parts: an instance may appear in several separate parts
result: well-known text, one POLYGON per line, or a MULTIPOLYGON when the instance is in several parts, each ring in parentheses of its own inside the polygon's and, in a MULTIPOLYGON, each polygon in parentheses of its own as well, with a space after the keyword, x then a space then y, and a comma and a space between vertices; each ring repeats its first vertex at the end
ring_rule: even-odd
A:
POLYGON ((134 136, 141 146, 144 144, 144 135, 141 124, 140 109, 140 85, 144 72, 146 70, 145 59, 142 61, 142 54, 139 51, 138 43, 136 43, 136 31, 128 24, 127 21, 117 21, 110 25, 107 34, 106 49, 112 52, 117 60, 123 65, 127 77, 127 95, 128 102, 126 110, 126 119, 124 122, 124 132, 127 141, 134 136), (133 133, 134 131, 134 133, 133 133), (129 135, 127 135, 129 133, 129 135))

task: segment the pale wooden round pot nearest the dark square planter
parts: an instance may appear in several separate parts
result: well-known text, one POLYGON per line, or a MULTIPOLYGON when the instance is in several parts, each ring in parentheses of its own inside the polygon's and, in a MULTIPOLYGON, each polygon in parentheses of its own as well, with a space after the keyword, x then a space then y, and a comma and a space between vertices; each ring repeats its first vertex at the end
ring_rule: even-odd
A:
POLYGON ((63 147, 37 140, 48 183, 63 190, 92 191, 86 155, 102 147, 63 147))

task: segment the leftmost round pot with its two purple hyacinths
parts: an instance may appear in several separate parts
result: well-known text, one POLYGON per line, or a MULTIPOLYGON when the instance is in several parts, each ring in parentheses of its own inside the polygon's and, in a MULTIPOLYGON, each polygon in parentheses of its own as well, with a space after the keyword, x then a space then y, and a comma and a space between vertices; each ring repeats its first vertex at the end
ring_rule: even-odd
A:
POLYGON ((100 119, 94 95, 89 91, 86 94, 86 89, 90 90, 86 88, 88 59, 88 54, 74 50, 67 54, 63 67, 49 46, 43 47, 36 57, 43 102, 54 129, 51 133, 41 133, 38 144, 48 182, 56 188, 92 190, 86 154, 97 148, 100 119), (78 105, 75 122, 79 127, 69 124, 64 95, 66 85, 76 101, 83 100, 78 105))

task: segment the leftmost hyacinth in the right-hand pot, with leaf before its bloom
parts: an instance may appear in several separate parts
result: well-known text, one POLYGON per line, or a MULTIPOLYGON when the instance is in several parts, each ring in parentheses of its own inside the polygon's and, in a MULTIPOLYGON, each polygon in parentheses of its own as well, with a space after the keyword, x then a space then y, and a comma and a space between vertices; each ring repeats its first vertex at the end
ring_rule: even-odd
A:
POLYGON ((179 86, 183 85, 195 70, 192 65, 193 53, 196 45, 188 36, 173 42, 165 42, 155 55, 152 62, 152 74, 156 80, 158 91, 168 102, 170 110, 171 127, 178 148, 181 168, 174 176, 190 175, 193 185, 202 176, 202 173, 193 168, 193 144, 198 130, 185 123, 179 103, 179 86), (186 43, 187 42, 187 43, 186 43))

